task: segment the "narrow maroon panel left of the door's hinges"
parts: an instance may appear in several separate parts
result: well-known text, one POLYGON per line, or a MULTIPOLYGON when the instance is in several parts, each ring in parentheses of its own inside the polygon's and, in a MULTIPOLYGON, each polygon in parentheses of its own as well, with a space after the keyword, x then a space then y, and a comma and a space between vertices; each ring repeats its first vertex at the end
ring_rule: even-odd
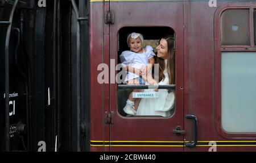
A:
MULTIPOLYGON (((108 64, 109 35, 105 34, 109 26, 104 23, 104 3, 90 5, 90 100, 91 100, 91 141, 109 142, 109 125, 104 122, 105 111, 109 110, 109 85, 97 81, 100 64, 108 64)), ((108 146, 91 145, 91 151, 109 151, 108 146)))

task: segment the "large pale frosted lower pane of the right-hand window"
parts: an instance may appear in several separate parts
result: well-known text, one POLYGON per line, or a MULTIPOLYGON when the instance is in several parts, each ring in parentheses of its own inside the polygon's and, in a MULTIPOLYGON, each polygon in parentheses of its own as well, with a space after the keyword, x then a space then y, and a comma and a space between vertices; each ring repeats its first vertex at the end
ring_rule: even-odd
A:
POLYGON ((256 132, 256 53, 221 55, 221 122, 227 132, 256 132))

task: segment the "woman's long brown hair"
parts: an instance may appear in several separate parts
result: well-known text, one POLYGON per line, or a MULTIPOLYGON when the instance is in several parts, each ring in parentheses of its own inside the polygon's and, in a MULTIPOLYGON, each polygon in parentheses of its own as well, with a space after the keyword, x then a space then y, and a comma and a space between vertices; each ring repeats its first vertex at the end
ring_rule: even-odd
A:
MULTIPOLYGON (((175 84, 175 51, 174 51, 174 37, 166 36, 162 37, 162 39, 165 39, 167 41, 167 48, 168 48, 168 56, 167 56, 167 65, 164 62, 163 58, 156 57, 156 64, 159 64, 159 81, 164 80, 166 78, 164 76, 164 68, 167 66, 167 73, 169 77, 169 84, 174 85, 175 84)), ((161 40, 161 39, 160 39, 161 40)), ((160 43, 159 40, 159 43, 160 43)))

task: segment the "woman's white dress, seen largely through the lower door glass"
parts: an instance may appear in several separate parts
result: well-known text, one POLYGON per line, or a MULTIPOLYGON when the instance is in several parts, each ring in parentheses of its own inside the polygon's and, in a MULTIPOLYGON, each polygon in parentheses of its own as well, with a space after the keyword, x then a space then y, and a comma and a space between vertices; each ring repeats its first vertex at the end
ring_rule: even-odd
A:
MULTIPOLYGON (((163 81, 159 82, 159 85, 168 85, 169 78, 167 70, 164 70, 164 78, 163 81)), ((148 83, 146 82, 146 85, 148 83)), ((155 91, 154 89, 145 89, 147 91, 155 91)), ((159 97, 158 98, 142 98, 139 103, 137 114, 136 115, 158 115, 168 117, 171 116, 171 110, 174 109, 175 104, 175 91, 171 91, 168 93, 167 89, 159 89, 159 97)))

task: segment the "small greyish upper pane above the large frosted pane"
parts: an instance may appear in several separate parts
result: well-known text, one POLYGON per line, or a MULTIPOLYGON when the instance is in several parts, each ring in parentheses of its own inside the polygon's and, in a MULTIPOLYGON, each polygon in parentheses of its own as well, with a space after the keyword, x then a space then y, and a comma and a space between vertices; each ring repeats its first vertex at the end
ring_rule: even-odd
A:
POLYGON ((221 23, 221 45, 250 45, 249 10, 226 10, 221 23))

